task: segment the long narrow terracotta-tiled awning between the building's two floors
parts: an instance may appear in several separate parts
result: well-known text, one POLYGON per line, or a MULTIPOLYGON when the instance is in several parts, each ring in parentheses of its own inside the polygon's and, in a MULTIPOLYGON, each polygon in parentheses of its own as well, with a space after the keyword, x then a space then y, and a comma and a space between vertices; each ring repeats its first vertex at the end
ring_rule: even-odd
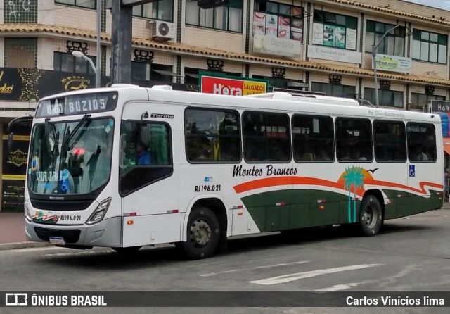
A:
MULTIPOLYGON (((350 2, 346 0, 331 0, 350 2)), ((17 36, 17 33, 39 33, 43 36, 51 36, 52 34, 60 34, 65 37, 82 37, 87 39, 96 39, 96 32, 91 30, 79 30, 70 27, 61 27, 53 25, 41 25, 41 24, 4 24, 0 25, 0 33, 13 34, 17 36)), ((101 40, 110 42, 111 34, 101 33, 101 40)), ((159 51, 167 51, 173 54, 186 54, 189 56, 210 56, 228 59, 232 61, 240 61, 245 63, 258 63, 266 65, 285 66, 288 68, 298 68, 299 70, 316 70, 324 73, 341 73, 345 75, 353 75, 357 77, 373 77, 374 73, 372 69, 357 68, 349 65, 335 65, 323 62, 314 61, 297 61, 290 58, 278 58, 270 56, 257 56, 253 54, 234 53, 230 51, 217 50, 203 48, 199 46, 192 46, 188 44, 179 44, 174 42, 155 42, 151 39, 139 39, 133 38, 133 44, 136 46, 146 47, 148 49, 154 49, 159 51)), ((380 79, 385 80, 399 80, 403 82, 416 82, 418 84, 432 84, 437 86, 450 87, 450 80, 444 80, 439 77, 431 77, 427 75, 407 75, 401 73, 383 72, 377 71, 377 75, 380 79)))

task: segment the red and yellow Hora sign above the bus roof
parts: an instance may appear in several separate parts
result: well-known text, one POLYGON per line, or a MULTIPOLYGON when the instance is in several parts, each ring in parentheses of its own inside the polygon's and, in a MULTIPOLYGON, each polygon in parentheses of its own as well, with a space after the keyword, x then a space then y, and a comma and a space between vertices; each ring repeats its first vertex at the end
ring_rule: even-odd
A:
POLYGON ((244 96, 267 92, 269 82, 248 77, 242 79, 225 75, 202 75, 200 73, 200 92, 221 95, 244 96))

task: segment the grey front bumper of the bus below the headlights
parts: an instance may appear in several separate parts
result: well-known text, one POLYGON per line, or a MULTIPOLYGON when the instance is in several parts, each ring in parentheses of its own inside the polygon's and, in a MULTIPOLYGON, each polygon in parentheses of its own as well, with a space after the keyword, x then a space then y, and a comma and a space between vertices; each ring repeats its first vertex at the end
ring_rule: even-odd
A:
POLYGON ((121 246, 122 218, 112 217, 96 225, 48 225, 30 222, 25 218, 28 241, 50 242, 49 238, 63 238, 67 246, 121 246))

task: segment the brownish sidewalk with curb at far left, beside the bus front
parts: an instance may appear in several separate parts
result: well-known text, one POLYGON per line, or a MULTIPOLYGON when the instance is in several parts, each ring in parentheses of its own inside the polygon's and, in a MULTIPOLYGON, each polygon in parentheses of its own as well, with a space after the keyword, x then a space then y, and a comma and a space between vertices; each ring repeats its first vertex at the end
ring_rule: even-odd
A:
MULTIPOLYGON (((441 209, 450 210, 450 203, 444 202, 441 209)), ((0 211, 0 251, 53 245, 48 242, 27 241, 24 220, 22 212, 4 213, 0 211)))

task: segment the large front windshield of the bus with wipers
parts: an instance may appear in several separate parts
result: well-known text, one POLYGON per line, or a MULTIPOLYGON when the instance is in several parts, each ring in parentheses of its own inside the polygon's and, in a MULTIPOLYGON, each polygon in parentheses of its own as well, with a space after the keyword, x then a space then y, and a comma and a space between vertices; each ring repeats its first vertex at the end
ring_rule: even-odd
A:
POLYGON ((37 123, 27 182, 34 194, 88 194, 110 177, 113 118, 37 123))

